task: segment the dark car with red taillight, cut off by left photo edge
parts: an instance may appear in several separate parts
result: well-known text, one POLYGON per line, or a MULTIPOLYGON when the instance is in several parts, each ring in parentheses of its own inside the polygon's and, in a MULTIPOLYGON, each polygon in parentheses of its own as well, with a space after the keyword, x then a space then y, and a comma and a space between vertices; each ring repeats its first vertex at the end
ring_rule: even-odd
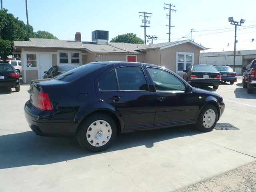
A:
POLYGON ((15 87, 20 91, 20 78, 14 67, 10 64, 0 64, 0 87, 15 87))

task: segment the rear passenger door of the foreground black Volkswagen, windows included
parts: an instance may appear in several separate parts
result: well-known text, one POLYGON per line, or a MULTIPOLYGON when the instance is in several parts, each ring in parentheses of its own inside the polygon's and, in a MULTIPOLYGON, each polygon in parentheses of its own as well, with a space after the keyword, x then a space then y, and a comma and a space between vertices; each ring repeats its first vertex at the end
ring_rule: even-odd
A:
POLYGON ((98 82, 98 96, 122 115, 127 130, 153 127, 155 96, 148 80, 141 66, 123 66, 98 82))

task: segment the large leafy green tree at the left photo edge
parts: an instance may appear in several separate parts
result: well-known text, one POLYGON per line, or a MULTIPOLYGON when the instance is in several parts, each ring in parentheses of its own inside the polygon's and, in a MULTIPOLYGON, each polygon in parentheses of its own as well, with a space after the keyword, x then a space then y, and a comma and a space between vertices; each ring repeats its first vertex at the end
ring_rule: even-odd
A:
POLYGON ((24 24, 8 13, 7 9, 0 10, 0 56, 6 60, 9 55, 12 55, 13 41, 28 40, 35 37, 33 27, 24 24))

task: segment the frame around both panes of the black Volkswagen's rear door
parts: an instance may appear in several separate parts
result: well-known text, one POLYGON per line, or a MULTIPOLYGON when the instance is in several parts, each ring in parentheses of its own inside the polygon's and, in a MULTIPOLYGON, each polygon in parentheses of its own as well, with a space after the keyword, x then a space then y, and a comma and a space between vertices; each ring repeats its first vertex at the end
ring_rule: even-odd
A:
POLYGON ((148 84, 148 80, 147 80, 147 78, 146 78, 146 74, 145 74, 145 71, 143 70, 143 67, 142 66, 120 66, 120 67, 117 67, 117 68, 114 68, 114 69, 112 69, 112 70, 110 70, 108 73, 106 73, 104 76, 102 76, 99 80, 98 80, 98 90, 99 91, 121 91, 121 92, 150 92, 150 87, 149 87, 149 84, 148 84), (145 78, 145 80, 146 80, 146 83, 147 83, 147 86, 148 86, 148 91, 145 91, 145 90, 120 90, 120 86, 119 86, 119 81, 118 81, 118 76, 117 76, 117 72, 116 72, 116 70, 118 69, 118 68, 123 68, 123 67, 140 67, 141 68, 141 70, 142 70, 142 73, 143 73, 143 75, 144 75, 144 78, 145 78), (112 71, 115 71, 115 74, 116 74, 116 82, 117 82, 117 88, 118 88, 118 90, 101 90, 100 89, 100 85, 99 85, 99 82, 100 82, 100 80, 102 79, 102 78, 104 78, 106 75, 108 75, 110 72, 112 72, 112 71))

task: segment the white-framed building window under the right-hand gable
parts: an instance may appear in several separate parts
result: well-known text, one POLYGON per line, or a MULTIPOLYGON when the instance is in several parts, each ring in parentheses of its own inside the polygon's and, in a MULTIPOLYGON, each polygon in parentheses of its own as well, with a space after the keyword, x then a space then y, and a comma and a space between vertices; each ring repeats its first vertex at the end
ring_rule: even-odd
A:
POLYGON ((191 64, 194 64, 194 53, 177 52, 176 72, 183 72, 191 64))

